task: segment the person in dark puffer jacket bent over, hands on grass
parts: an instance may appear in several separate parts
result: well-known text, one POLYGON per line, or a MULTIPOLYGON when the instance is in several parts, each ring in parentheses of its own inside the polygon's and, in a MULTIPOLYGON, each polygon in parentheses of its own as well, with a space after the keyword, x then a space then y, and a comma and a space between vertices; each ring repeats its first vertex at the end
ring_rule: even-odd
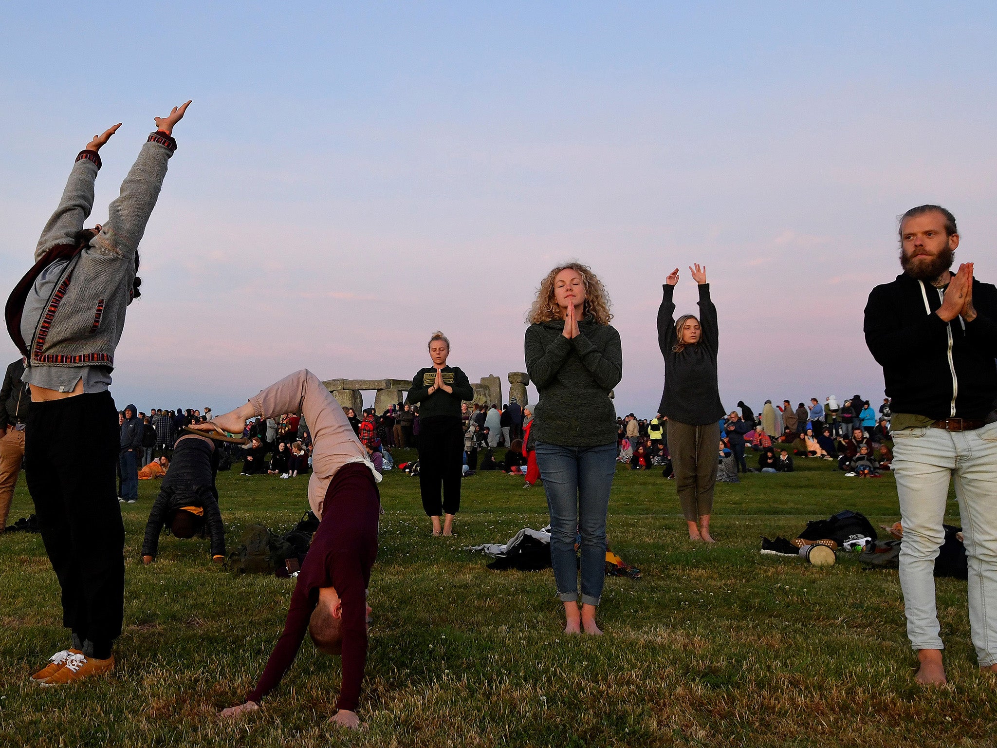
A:
POLYGON ((193 538, 206 527, 211 537, 211 560, 225 561, 225 526, 218 510, 218 450, 214 443, 196 434, 185 434, 173 447, 173 462, 163 479, 160 495, 149 513, 142 562, 156 559, 164 525, 174 538, 193 538))

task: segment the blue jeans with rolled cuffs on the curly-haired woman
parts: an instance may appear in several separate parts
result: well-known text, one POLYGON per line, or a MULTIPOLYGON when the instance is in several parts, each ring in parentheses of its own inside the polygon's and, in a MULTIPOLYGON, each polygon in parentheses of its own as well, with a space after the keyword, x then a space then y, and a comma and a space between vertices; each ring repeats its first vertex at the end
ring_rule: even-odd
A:
POLYGON ((606 512, 616 472, 616 443, 559 447, 536 443, 536 465, 550 512, 550 562, 557 596, 578 599, 575 536, 581 535, 581 601, 598 605, 606 576, 606 512))

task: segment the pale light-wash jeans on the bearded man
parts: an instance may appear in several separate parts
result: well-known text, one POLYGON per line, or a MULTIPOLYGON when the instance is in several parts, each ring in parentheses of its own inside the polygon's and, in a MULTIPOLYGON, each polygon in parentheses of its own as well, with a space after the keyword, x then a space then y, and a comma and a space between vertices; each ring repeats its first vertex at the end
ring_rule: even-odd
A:
POLYGON ((911 428, 893 432, 893 474, 903 544, 900 588, 914 649, 941 649, 934 561, 945 540, 948 481, 969 564, 969 625, 980 666, 997 662, 997 423, 974 431, 911 428))

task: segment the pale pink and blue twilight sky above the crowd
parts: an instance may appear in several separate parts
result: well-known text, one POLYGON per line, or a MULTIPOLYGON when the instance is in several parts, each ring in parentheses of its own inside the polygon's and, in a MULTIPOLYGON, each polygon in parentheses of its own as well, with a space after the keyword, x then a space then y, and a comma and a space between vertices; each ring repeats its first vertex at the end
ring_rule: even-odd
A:
POLYGON ((411 377, 437 328, 504 379, 571 258, 613 300, 621 414, 656 409, 661 283, 681 267, 693 311, 697 261, 725 406, 876 403, 862 308, 898 272, 896 216, 946 205, 997 281, 991 3, 22 3, 3 26, 8 288, 90 137, 124 123, 103 220, 153 116, 193 99, 120 405, 219 411, 301 367, 411 377))

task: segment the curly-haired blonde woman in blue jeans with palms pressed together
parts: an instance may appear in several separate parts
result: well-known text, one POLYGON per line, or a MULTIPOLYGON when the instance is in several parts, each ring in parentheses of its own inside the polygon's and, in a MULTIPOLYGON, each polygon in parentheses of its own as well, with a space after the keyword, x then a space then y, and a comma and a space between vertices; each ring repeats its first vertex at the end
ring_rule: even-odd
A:
POLYGON ((565 633, 600 634, 606 512, 616 469, 620 336, 609 297, 585 265, 553 268, 540 283, 526 329, 526 371, 539 391, 531 427, 550 511, 550 561, 564 603, 565 633), (581 609, 574 539, 581 534, 581 609))

